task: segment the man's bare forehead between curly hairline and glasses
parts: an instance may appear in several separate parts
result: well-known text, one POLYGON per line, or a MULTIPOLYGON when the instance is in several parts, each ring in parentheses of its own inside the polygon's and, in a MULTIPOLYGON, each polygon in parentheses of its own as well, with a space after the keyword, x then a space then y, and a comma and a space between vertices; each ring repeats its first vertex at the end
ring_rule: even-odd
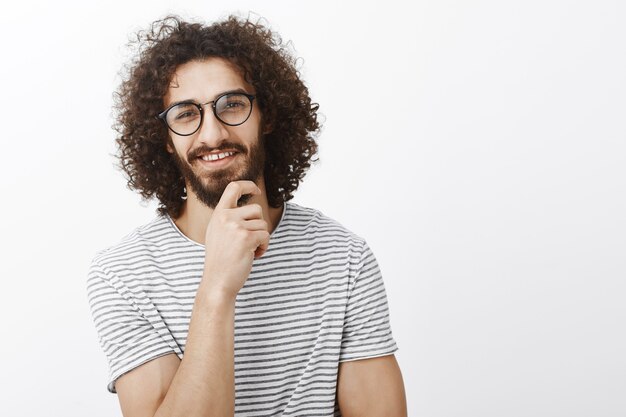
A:
POLYGON ((181 100, 206 102, 225 91, 237 89, 254 93, 254 88, 244 80, 236 65, 223 58, 207 58, 176 68, 163 102, 166 107, 181 100))

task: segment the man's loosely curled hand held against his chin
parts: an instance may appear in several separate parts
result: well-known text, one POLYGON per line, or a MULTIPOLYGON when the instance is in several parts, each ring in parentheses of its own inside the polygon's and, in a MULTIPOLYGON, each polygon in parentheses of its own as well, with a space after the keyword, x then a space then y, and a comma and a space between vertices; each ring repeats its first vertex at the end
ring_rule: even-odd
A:
POLYGON ((210 291, 236 297, 250 275, 254 258, 269 245, 270 233, 258 204, 237 207, 245 194, 260 194, 252 181, 233 181, 213 210, 205 236, 203 284, 210 291))

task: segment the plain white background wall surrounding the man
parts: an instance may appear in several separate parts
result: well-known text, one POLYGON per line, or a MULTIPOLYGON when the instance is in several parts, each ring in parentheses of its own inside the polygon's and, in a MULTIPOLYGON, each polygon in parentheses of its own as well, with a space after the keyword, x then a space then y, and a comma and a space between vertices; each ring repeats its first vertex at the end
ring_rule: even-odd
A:
POLYGON ((0 404, 121 416, 85 295, 153 218, 113 164, 132 33, 252 10, 325 123, 295 202, 367 239, 412 416, 626 415, 623 1, 31 3, 0 42, 0 404))

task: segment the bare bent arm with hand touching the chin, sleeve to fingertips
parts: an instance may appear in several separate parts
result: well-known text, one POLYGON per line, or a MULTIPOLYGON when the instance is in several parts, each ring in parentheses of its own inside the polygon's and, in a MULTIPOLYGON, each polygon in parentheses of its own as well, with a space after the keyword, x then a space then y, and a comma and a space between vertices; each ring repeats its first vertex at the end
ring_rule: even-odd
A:
POLYGON ((237 200, 259 192, 249 181, 224 191, 206 232, 185 355, 154 359, 118 379, 124 417, 233 416, 235 298, 269 241, 260 206, 237 207, 237 200))

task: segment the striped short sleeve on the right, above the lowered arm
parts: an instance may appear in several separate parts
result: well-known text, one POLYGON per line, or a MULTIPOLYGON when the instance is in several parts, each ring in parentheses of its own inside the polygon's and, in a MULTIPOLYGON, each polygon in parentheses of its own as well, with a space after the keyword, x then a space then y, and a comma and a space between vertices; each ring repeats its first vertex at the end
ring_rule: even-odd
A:
POLYGON ((339 362, 390 355, 397 350, 383 278, 365 243, 349 290, 339 362))

